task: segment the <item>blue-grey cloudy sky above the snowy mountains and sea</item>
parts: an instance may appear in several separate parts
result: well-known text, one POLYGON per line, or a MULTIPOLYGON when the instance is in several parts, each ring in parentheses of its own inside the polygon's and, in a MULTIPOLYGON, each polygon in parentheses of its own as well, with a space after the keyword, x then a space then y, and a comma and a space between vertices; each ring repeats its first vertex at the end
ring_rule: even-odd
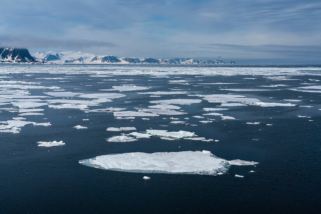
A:
POLYGON ((321 1, 2 1, 0 46, 321 64, 321 1))

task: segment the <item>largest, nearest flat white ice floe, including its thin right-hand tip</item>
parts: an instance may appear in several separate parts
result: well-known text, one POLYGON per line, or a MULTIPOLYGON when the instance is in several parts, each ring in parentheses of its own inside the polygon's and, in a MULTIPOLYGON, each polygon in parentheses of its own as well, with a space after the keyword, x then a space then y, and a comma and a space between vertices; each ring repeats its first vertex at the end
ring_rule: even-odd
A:
MULTIPOLYGON (((216 175, 220 173, 219 175, 221 175, 226 173, 235 161, 239 163, 239 160, 228 161, 216 157, 210 151, 203 150, 108 154, 80 160, 79 163, 95 168, 136 173, 185 173, 201 175, 216 175)), ((242 162, 242 165, 254 164, 257 163, 250 161, 242 162)))

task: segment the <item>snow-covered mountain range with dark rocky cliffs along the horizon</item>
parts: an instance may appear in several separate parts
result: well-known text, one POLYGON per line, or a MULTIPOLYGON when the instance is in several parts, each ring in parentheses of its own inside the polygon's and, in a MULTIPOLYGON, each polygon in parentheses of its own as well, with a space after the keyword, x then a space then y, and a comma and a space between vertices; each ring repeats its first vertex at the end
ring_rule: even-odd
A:
MULTIPOLYGON (((226 64, 222 60, 216 59, 153 59, 105 56, 79 51, 65 52, 35 52, 29 53, 25 48, 0 48, 0 63, 56 63, 56 64, 226 64)), ((231 61, 229 64, 235 64, 231 61)))

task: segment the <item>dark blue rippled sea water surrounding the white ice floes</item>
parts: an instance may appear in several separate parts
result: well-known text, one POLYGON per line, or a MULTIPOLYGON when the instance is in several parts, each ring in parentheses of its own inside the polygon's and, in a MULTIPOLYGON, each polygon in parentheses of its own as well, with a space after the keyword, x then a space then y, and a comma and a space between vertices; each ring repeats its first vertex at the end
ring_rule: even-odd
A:
MULTIPOLYGON (((112 102, 100 103, 101 106, 90 106, 89 109, 121 107, 137 111, 135 107, 147 108, 153 105, 149 103, 153 100, 202 99, 187 94, 150 97, 151 94, 137 93, 171 89, 187 91, 189 95, 233 93, 257 98, 262 102, 297 104, 293 107, 223 107, 229 110, 213 112, 233 116, 237 120, 221 120, 220 116, 209 116, 216 120, 207 124, 199 122, 207 120, 206 118, 198 119, 192 116, 210 113, 203 108, 217 107, 221 103, 203 100, 191 105, 176 105, 188 114, 148 117, 150 120, 142 120, 141 117, 132 120, 116 119, 112 112, 85 113, 80 109, 37 107, 45 109, 41 112, 45 115, 23 117, 37 123, 50 122, 51 126, 29 124, 21 127, 20 133, 0 133, 0 213, 318 213, 321 206, 321 93, 289 89, 302 90, 298 87, 320 86, 321 81, 315 81, 321 80, 320 73, 321 67, 317 65, 0 65, 0 81, 42 82, 39 85, 57 86, 70 92, 126 95, 115 98, 112 102), (183 74, 184 69, 188 74, 183 74), (169 72, 171 70, 177 73, 169 72), (3 78, 4 76, 9 78, 3 78), (267 76, 277 78, 266 78, 267 76), (103 81, 108 79, 117 81, 103 81), (170 80, 186 80, 187 82, 181 83, 189 85, 170 84, 170 80), (151 88, 139 91, 101 91, 122 84, 151 88), (285 86, 260 87, 278 84, 285 86), (171 124, 173 120, 170 117, 179 118, 181 121, 186 121, 184 118, 188 117, 188 123, 198 126, 171 124), (246 124, 247 122, 260 124, 246 124), (168 126, 162 127, 160 124, 168 126), (75 129, 75 125, 86 126, 88 129, 75 129), (195 132, 199 137, 219 141, 169 141, 151 137, 133 142, 107 142, 106 138, 129 133, 106 131, 108 127, 121 126, 133 126, 137 132, 150 128, 184 130, 195 132), (62 140, 65 145, 38 147, 36 143, 55 140, 62 140), (231 166, 227 174, 213 176, 119 172, 78 163, 82 159, 112 153, 189 150, 209 150, 227 160, 241 159, 259 164, 231 166), (255 172, 250 173, 250 170, 255 172), (244 178, 235 177, 236 174, 243 175, 244 178), (144 180, 143 176, 151 179, 144 180)), ((2 84, 9 83, 0 82, 0 86, 2 84)), ((19 89, 10 87, 5 88, 19 89)), ((3 88, 0 88, 0 91, 3 88)), ((34 96, 53 92, 52 89, 27 90, 34 96)), ((10 103, 0 106, 10 107, 19 110, 10 103)), ((17 111, 0 111, 0 121, 19 117, 17 111)))

